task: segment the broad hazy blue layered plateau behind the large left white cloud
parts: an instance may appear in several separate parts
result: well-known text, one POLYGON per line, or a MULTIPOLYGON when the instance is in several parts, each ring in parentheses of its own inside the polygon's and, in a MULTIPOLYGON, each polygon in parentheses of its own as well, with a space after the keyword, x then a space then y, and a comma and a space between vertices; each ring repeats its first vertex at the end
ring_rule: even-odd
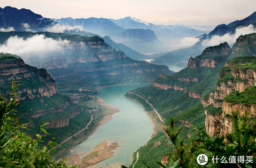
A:
MULTIPOLYGON (((127 81, 135 80, 140 83, 148 83, 163 72, 167 75, 174 73, 168 70, 167 66, 130 59, 124 52, 114 50, 97 36, 86 37, 77 34, 55 34, 49 32, 27 32, 26 34, 24 32, 0 32, 0 36, 4 37, 2 42, 15 35, 24 39, 27 38, 27 35, 42 37, 59 43, 55 50, 28 52, 21 55, 27 64, 46 68, 54 79, 65 78, 72 82, 78 80, 77 74, 79 74, 83 78, 96 78, 93 79, 96 83, 102 81, 98 80, 102 76, 104 78, 106 76, 114 76, 110 77, 114 79, 109 81, 110 83, 127 83, 127 81), (136 77, 131 76, 131 73, 136 77), (118 75, 119 77, 116 77, 118 75)), ((81 79, 79 80, 81 81, 81 79)), ((100 84, 109 85, 106 80, 100 82, 100 84)))

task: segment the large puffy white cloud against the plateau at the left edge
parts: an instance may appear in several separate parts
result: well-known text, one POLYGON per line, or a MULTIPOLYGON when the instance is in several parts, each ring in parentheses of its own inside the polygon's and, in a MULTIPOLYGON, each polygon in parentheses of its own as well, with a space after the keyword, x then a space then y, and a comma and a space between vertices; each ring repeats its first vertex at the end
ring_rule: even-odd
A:
POLYGON ((67 40, 54 40, 45 35, 34 35, 24 40, 18 36, 9 37, 9 39, 0 45, 0 52, 8 52, 22 56, 28 53, 51 52, 61 50, 69 43, 67 40))

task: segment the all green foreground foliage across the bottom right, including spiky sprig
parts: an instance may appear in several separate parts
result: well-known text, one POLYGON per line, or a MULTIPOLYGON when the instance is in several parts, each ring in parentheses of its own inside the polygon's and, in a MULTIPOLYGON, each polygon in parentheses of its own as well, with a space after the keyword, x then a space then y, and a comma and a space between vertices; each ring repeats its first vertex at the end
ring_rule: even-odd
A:
MULTIPOLYGON (((165 154, 169 157, 168 164, 164 166, 157 160, 156 163, 163 168, 204 168, 197 163, 197 157, 199 154, 205 154, 208 157, 205 167, 256 168, 256 118, 251 120, 249 116, 250 114, 246 113, 238 118, 238 111, 232 112, 233 129, 231 133, 225 135, 227 141, 224 141, 224 136, 211 137, 203 131, 203 127, 195 125, 193 130, 196 136, 190 138, 190 144, 184 143, 183 138, 179 138, 183 126, 177 128, 175 118, 170 118, 170 124, 165 126, 164 130, 173 144, 173 150, 165 154), (198 138, 195 140, 197 143, 194 142, 195 137, 198 138), (232 157, 236 161, 230 164, 232 157), (238 158, 241 160, 244 158, 244 161, 237 161, 238 158)), ((159 167, 156 163, 151 164, 151 168, 159 167)))

